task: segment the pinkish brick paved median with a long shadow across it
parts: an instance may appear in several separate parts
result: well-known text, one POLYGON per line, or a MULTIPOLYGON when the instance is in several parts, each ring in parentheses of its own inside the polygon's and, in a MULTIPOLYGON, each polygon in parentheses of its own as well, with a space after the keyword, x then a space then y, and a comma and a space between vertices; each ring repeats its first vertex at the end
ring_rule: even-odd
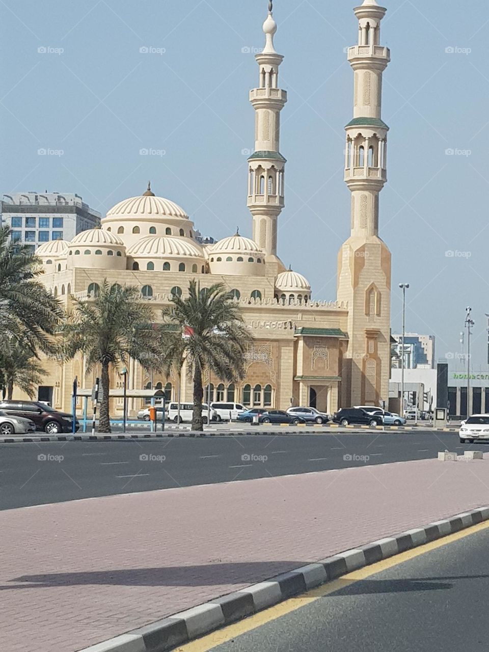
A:
POLYGON ((422 460, 0 512, 0 641, 72 652, 489 504, 489 459, 422 460))

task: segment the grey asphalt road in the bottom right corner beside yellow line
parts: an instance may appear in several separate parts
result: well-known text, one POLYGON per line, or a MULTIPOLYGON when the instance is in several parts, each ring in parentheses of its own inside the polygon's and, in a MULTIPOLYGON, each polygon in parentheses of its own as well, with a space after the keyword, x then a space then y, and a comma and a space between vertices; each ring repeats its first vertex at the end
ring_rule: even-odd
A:
POLYGON ((209 647, 203 639, 198 649, 486 652, 488 546, 489 529, 483 529, 323 595, 222 645, 209 647))

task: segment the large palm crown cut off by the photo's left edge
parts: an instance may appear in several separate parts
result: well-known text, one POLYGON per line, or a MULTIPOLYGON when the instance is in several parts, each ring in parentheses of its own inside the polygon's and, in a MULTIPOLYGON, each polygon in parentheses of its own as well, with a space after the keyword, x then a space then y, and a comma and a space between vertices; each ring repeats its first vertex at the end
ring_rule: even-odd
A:
POLYGON ((39 259, 10 235, 10 227, 0 227, 0 348, 22 341, 32 354, 36 349, 53 354, 61 303, 36 280, 42 274, 39 259))

